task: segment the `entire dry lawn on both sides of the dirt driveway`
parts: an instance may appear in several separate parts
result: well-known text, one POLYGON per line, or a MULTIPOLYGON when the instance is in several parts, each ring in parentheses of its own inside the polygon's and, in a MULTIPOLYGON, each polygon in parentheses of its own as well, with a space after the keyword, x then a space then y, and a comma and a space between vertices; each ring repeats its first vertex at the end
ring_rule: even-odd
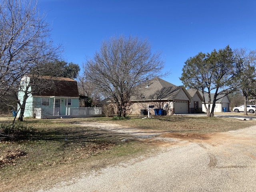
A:
POLYGON ((5 126, 0 132, 15 134, 15 139, 0 140, 0 191, 18 191, 26 186, 33 191, 36 186, 44 185, 44 180, 54 184, 70 175, 150 155, 152 150, 156 150, 156 146, 146 142, 122 142, 125 135, 121 133, 81 126, 84 122, 180 133, 225 132, 256 125, 254 120, 233 118, 155 116, 118 121, 107 117, 24 119, 13 129, 8 126, 10 122, 4 120, 5 126))

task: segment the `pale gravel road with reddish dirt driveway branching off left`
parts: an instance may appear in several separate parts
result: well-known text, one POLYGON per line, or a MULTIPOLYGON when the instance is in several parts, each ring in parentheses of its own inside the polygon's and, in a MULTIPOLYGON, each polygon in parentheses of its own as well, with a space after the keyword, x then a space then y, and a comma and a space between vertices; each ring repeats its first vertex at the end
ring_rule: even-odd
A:
POLYGON ((49 192, 256 191, 256 126, 203 135, 124 129, 113 124, 90 126, 125 131, 127 139, 147 140, 163 146, 162 151, 91 172, 49 192))

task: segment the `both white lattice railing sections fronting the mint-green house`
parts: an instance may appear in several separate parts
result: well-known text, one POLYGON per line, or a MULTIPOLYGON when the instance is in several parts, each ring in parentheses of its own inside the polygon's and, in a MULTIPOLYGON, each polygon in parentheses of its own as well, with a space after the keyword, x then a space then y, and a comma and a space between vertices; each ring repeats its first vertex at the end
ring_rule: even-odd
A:
MULTIPOLYGON (((102 108, 101 107, 69 108, 67 116, 70 116, 71 118, 100 117, 102 116, 102 108)), ((34 117, 37 119, 60 118, 60 108, 34 108, 34 117)))

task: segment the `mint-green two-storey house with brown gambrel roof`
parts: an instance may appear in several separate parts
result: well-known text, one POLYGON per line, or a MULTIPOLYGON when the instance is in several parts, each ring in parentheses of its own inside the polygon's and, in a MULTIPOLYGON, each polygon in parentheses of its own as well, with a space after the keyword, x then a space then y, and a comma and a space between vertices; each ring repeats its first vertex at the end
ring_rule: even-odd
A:
POLYGON ((24 90, 27 87, 30 94, 26 101, 24 117, 64 118, 65 116, 84 117, 88 114, 85 108, 78 108, 78 86, 73 79, 24 76, 18 92, 20 102, 23 101, 24 90))

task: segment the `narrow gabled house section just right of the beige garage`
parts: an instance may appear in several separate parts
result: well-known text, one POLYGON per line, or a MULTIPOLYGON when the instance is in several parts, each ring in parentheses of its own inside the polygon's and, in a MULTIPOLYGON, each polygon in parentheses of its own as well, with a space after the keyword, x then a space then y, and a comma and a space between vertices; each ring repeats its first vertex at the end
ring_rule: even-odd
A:
POLYGON ((188 89, 187 91, 191 96, 190 112, 191 113, 200 113, 200 112, 202 112, 203 98, 202 98, 202 95, 200 94, 199 90, 188 89))

